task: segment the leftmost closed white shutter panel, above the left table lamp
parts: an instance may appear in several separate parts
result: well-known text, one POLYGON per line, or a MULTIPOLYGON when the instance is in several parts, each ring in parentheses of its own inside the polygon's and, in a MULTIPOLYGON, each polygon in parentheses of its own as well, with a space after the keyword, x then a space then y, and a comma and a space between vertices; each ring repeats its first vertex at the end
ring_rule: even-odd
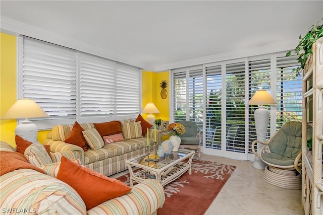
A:
POLYGON ((24 98, 49 116, 76 118, 75 50, 24 37, 22 70, 24 98))

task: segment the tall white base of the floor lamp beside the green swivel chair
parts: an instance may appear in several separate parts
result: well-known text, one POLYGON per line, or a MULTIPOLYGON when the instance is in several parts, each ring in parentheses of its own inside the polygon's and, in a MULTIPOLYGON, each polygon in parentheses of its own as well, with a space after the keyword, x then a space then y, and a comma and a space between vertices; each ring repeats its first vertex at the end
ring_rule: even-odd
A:
MULTIPOLYGON (((262 105, 254 111, 254 121, 257 133, 257 140, 264 142, 266 140, 267 127, 269 121, 269 111, 262 105)), ((257 153, 262 150, 263 145, 257 142, 257 153)), ((264 170, 267 165, 261 161, 260 158, 255 157, 252 167, 264 170)))

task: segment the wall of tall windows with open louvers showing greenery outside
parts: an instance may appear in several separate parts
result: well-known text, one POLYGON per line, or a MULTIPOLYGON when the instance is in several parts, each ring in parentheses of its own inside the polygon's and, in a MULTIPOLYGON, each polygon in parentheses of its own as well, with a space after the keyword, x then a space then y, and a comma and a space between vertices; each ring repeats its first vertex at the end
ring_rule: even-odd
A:
POLYGON ((266 105, 272 117, 267 137, 273 125, 279 129, 284 122, 302 117, 301 78, 292 71, 299 64, 295 56, 285 57, 285 53, 172 70, 174 121, 198 121, 205 149, 252 154, 258 106, 247 103, 257 90, 277 92, 272 93, 278 102, 276 114, 266 105))

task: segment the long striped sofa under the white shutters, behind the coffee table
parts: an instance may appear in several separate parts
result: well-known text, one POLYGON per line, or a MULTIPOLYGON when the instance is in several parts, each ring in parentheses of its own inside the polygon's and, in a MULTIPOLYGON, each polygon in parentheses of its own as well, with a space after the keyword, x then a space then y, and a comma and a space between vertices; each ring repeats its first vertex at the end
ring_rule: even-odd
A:
MULTIPOLYGON (((119 121, 123 125, 124 123, 135 122, 135 119, 130 118, 119 121)), ((83 123, 80 125, 84 130, 95 128, 93 123, 83 123)), ((105 144, 98 150, 89 149, 87 152, 84 152, 81 147, 64 142, 72 128, 73 125, 57 125, 53 127, 48 133, 44 145, 49 145, 51 152, 72 151, 77 153, 77 158, 85 167, 103 175, 110 176, 122 172, 127 169, 126 160, 147 153, 146 137, 113 142, 105 144), (61 129, 59 128, 60 126, 62 127, 61 129)), ((150 129, 149 137, 153 137, 154 132, 154 129, 150 129)), ((156 139, 159 145, 161 143, 161 136, 161 130, 156 130, 156 139)), ((149 151, 154 151, 158 148, 158 146, 153 145, 153 140, 153 138, 149 138, 151 145, 149 151)))

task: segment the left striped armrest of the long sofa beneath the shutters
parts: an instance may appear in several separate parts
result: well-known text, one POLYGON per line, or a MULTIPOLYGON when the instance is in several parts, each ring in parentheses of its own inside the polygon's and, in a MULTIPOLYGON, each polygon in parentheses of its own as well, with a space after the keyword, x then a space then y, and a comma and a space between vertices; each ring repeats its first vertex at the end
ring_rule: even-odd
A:
MULTIPOLYGON (((68 143, 66 143, 64 141, 52 140, 52 139, 45 139, 44 145, 49 145, 50 152, 53 152, 53 153, 73 152, 75 157, 74 158, 68 157, 68 158, 80 159, 82 164, 84 164, 84 151, 83 151, 83 149, 81 147, 75 146, 73 144, 68 144, 68 143)), ((67 155, 67 156, 70 156, 70 155, 67 155)))

